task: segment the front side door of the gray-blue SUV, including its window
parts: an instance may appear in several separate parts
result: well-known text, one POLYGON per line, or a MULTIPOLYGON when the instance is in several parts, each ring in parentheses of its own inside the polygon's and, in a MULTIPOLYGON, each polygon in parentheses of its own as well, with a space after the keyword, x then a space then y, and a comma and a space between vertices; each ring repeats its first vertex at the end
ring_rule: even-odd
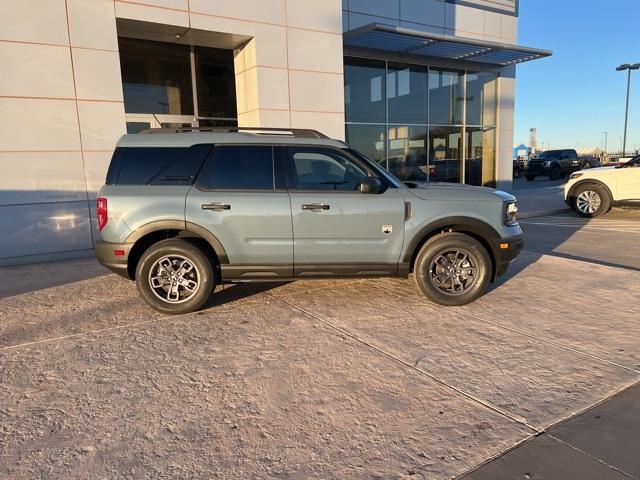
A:
POLYGON ((294 273, 394 274, 404 240, 404 198, 396 188, 361 193, 374 174, 331 147, 286 147, 294 273))

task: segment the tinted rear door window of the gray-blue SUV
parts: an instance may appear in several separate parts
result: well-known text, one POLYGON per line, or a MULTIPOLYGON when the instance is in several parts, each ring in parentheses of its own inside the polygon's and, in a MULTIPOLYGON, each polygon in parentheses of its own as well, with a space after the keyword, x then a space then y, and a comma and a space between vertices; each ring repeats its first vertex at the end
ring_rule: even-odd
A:
POLYGON ((196 186, 201 190, 273 190, 273 148, 218 147, 202 167, 196 186))

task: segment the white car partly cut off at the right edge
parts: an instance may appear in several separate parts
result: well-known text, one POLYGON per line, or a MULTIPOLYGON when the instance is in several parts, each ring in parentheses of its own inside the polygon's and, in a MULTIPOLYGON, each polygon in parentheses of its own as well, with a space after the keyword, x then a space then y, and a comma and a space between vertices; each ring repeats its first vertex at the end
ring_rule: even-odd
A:
POLYGON ((598 217, 611 207, 640 207, 640 156, 617 167, 590 168, 571 174, 564 201, 582 217, 598 217))

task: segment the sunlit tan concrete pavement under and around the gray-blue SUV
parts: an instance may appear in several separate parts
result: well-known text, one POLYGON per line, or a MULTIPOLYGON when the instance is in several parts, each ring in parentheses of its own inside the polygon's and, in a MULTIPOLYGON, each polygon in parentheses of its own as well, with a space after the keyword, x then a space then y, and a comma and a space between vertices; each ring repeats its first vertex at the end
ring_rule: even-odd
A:
POLYGON ((91 260, 4 268, 0 477, 463 475, 640 380, 636 213, 523 221, 460 308, 301 281, 168 317, 91 260))

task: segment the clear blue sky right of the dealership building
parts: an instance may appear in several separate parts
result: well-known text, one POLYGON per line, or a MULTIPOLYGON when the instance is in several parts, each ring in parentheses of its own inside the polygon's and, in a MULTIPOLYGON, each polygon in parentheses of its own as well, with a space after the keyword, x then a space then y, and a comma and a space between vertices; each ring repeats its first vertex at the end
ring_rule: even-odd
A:
MULTIPOLYGON (((517 67, 514 143, 620 150, 627 74, 640 63, 640 0, 520 0, 518 43, 553 50, 517 67)), ((640 70, 631 74, 627 150, 640 148, 640 70)))

